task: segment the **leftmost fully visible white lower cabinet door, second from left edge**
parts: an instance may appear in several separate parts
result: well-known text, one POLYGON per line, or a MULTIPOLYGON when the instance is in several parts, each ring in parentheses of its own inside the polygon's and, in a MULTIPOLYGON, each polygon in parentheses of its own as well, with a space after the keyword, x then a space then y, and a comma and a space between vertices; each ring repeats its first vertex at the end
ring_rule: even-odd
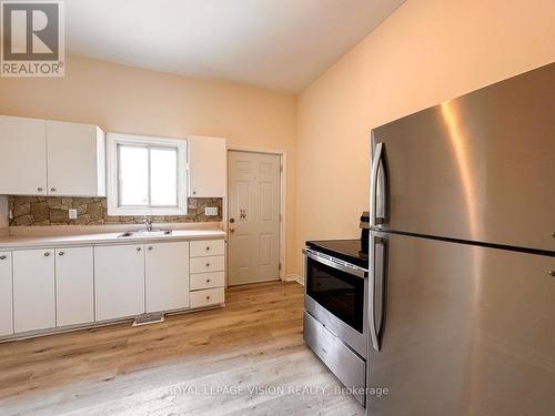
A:
POLYGON ((17 251, 12 258, 14 331, 56 327, 54 251, 17 251))

